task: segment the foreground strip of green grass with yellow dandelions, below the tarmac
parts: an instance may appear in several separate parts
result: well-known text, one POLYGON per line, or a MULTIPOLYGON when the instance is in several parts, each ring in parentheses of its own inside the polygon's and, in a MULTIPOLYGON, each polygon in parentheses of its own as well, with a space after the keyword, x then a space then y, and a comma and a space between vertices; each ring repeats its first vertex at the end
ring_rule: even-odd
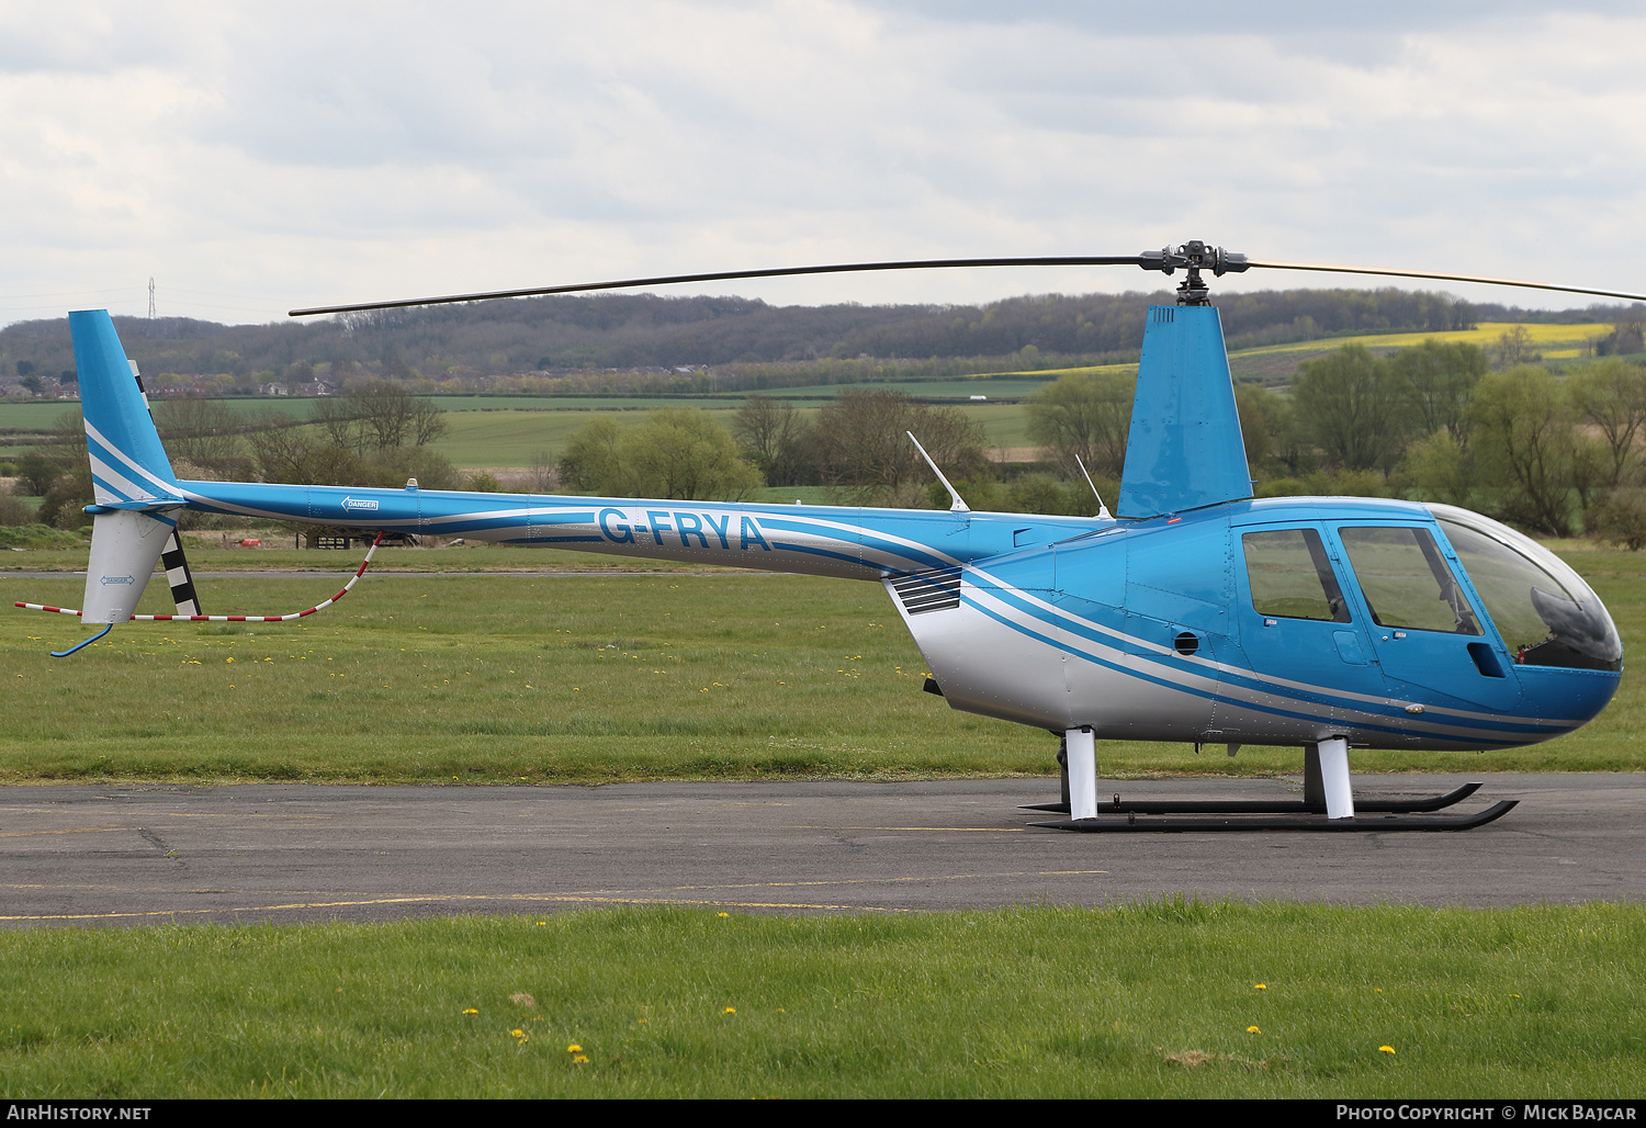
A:
POLYGON ((1603 904, 10 932, 0 1088, 1634 1098, 1643 953, 1603 904))

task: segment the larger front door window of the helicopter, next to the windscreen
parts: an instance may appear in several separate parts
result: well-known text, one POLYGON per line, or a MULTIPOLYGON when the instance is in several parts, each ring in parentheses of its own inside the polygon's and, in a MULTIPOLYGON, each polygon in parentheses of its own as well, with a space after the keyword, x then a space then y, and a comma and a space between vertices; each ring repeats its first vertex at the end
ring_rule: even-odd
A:
POLYGON ((1379 627, 1480 634, 1480 622, 1427 529, 1338 529, 1379 627))

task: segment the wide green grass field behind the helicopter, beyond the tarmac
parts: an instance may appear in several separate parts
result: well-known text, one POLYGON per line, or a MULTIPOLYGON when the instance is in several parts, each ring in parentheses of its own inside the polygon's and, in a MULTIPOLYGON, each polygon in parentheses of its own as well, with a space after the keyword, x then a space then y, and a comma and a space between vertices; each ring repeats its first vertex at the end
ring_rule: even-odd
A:
MULTIPOLYGON (((1564 547, 1630 652, 1646 641, 1646 560, 1564 547)), ((84 566, 84 550, 8 553, 84 566)), ((523 548, 384 550, 390 570, 609 565, 523 548)), ((354 566, 349 553, 196 552, 196 571, 354 566)), ((25 566, 28 566, 25 563, 25 566)), ((609 782, 1044 776, 1045 733, 951 711, 877 585, 701 575, 367 576, 293 624, 132 624, 69 659, 76 621, 0 611, 0 781, 609 782), (72 708, 66 708, 72 703, 72 708), (226 708, 227 706, 227 708, 226 708)), ((201 580, 214 614, 286 613, 334 575, 201 580)), ((7 601, 79 606, 82 581, 7 576, 7 601)), ((145 609, 165 613, 151 583, 145 609)), ((1646 771, 1646 692, 1630 667, 1570 736, 1481 753, 1356 753, 1356 771, 1646 771)), ((1104 743, 1106 776, 1299 771, 1286 748, 1195 754, 1104 743)))

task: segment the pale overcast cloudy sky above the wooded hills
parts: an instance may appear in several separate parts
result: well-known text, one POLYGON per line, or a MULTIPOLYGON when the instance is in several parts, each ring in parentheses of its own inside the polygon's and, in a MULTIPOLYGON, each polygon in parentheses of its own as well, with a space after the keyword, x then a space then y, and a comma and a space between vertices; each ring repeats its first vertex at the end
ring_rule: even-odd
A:
MULTIPOLYGON (((1646 290, 1643 58, 1641 5, 1605 0, 0 0, 0 323, 142 313, 150 277, 161 315, 268 321, 1185 239, 1646 290)), ((703 290, 978 301, 1151 280, 703 290)))

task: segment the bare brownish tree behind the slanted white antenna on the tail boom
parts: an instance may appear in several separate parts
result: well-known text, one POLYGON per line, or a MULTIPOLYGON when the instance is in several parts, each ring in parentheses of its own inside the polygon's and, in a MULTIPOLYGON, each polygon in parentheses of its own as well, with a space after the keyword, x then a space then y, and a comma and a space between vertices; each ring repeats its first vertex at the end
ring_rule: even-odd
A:
POLYGON ((932 471, 909 441, 914 433, 950 481, 986 464, 983 426, 953 407, 915 403, 902 392, 843 392, 818 412, 823 481, 853 501, 892 497, 918 504, 932 471))

